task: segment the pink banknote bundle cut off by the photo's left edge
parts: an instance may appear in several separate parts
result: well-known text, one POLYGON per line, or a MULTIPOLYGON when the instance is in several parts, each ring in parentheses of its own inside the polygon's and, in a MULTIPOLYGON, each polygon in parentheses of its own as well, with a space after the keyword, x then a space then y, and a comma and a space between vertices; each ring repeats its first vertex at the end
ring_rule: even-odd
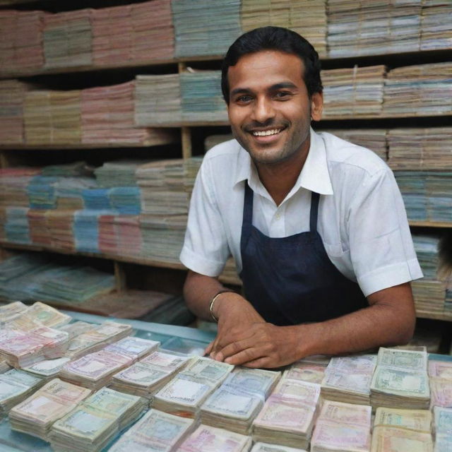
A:
POLYGON ((0 332, 0 357, 11 367, 28 367, 42 359, 59 358, 69 345, 69 334, 47 326, 31 331, 4 329, 0 332))

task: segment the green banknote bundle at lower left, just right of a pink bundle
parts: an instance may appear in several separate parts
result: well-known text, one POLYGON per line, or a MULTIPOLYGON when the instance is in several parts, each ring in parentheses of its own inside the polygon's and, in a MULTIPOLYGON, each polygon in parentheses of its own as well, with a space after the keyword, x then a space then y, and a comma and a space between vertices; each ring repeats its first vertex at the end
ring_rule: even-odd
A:
POLYGON ((147 405, 138 396, 102 388, 52 425, 50 443, 57 451, 101 451, 147 405))

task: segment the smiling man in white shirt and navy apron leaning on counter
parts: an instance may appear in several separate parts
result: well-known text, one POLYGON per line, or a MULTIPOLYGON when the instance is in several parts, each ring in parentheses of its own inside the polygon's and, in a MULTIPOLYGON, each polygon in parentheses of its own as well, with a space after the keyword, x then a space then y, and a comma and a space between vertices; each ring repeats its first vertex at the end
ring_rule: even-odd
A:
POLYGON ((311 130, 323 107, 314 48, 284 28, 247 32, 222 91, 235 140, 203 160, 181 253, 187 304, 218 320, 206 352, 280 367, 406 343, 422 272, 400 191, 370 150, 311 130), (230 254, 244 297, 217 279, 230 254))

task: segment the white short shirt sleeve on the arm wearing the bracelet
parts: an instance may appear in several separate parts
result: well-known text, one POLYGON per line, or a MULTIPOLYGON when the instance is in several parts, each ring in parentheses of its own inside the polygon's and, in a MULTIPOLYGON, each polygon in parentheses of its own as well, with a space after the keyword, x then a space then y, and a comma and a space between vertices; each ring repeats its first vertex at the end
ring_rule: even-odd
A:
POLYGON ((230 249, 218 203, 215 200, 213 176, 209 161, 204 159, 191 195, 189 219, 180 261, 196 273, 218 276, 230 249))

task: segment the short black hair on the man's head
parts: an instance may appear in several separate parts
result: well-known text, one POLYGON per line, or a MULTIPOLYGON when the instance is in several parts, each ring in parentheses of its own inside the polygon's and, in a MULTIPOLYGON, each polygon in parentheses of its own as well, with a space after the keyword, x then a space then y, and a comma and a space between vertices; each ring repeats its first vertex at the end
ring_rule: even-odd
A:
POLYGON ((227 104, 229 104, 229 81, 227 71, 235 66, 240 57, 263 50, 277 50, 286 54, 294 54, 304 63, 304 84, 309 97, 323 90, 320 78, 319 54, 314 47, 298 33, 281 27, 255 28, 235 40, 228 49, 221 68, 221 90, 227 104))

